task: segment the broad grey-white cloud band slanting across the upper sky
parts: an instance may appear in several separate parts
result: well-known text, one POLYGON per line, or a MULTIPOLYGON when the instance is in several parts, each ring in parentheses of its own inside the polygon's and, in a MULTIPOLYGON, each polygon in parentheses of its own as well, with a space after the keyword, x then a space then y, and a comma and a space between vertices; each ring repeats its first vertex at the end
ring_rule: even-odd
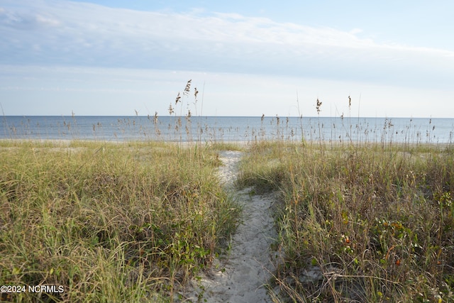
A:
POLYGON ((447 87, 454 53, 233 13, 40 0, 0 9, 0 63, 194 70, 447 87))

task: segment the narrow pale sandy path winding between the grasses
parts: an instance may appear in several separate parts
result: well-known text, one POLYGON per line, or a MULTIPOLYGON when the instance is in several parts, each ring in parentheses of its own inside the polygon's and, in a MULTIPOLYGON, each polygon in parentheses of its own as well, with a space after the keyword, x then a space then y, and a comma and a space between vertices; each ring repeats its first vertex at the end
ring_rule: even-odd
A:
POLYGON ((233 235, 230 253, 215 260, 211 272, 201 280, 190 283, 183 294, 185 302, 272 302, 265 288, 276 258, 270 250, 277 236, 270 209, 272 197, 233 189, 241 155, 238 151, 221 152, 224 165, 219 175, 243 205, 243 223, 233 235))

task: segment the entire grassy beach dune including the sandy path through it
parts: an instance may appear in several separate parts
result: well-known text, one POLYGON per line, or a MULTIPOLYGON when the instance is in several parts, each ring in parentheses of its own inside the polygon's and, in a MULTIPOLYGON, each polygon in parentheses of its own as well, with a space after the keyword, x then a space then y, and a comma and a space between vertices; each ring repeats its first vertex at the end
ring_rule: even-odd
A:
POLYGON ((450 144, 6 140, 0 157, 1 279, 64 290, 4 301, 452 299, 450 144))

